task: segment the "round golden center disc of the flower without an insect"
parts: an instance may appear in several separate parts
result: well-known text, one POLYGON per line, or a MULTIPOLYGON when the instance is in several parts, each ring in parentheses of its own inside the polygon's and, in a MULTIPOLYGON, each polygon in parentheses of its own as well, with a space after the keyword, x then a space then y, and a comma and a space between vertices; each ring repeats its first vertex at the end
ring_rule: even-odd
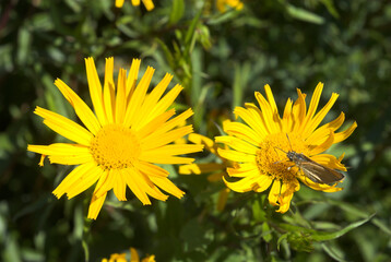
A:
POLYGON ((114 123, 103 127, 92 139, 90 152, 103 169, 122 169, 134 166, 141 147, 133 131, 114 123))

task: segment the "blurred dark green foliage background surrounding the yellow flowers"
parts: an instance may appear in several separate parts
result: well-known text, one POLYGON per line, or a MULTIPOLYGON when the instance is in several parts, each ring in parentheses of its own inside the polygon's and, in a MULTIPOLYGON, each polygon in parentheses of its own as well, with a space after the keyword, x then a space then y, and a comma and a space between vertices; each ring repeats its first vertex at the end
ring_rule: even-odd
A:
POLYGON ((114 2, 0 3, 0 260, 100 261, 129 247, 158 262, 391 260, 389 1, 249 0, 226 13, 214 1, 155 0, 152 12, 114 2), (92 191, 57 200, 51 191, 71 167, 40 168, 26 146, 66 141, 33 110, 39 105, 75 120, 54 81, 60 78, 91 105, 83 61, 90 56, 102 80, 110 56, 116 68, 142 58, 142 72, 156 68, 153 85, 173 73, 185 86, 176 107, 192 107, 196 131, 210 138, 266 83, 280 108, 296 99, 296 87, 311 95, 325 83, 322 105, 340 94, 327 120, 344 111, 344 128, 358 123, 330 151, 346 153, 344 190, 303 186, 284 215, 266 194, 233 193, 217 212, 223 183, 168 166, 183 199, 142 206, 128 192, 128 202, 111 196, 97 221, 85 219, 92 191))

